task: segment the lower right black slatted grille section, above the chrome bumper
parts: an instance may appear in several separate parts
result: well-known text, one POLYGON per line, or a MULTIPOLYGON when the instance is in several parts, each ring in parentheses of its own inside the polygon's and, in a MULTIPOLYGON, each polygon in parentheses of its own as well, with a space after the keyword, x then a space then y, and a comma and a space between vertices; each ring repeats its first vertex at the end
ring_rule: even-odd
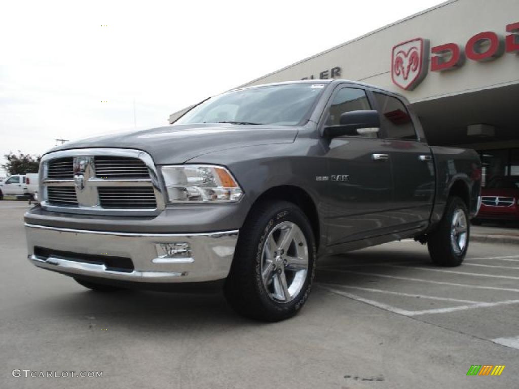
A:
POLYGON ((104 187, 99 188, 99 202, 103 208, 151 208, 157 207, 152 187, 104 187))

